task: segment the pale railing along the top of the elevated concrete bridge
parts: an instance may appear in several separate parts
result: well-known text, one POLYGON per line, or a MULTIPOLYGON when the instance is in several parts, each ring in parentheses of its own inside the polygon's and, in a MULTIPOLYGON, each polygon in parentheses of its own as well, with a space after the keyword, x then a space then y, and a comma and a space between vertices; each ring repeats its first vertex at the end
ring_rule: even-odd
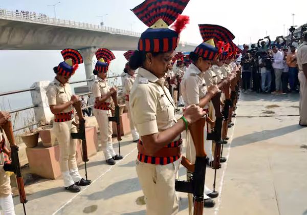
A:
POLYGON ((89 23, 75 22, 72 20, 51 18, 45 15, 34 14, 34 13, 8 11, 5 9, 0 9, 0 18, 21 20, 23 22, 35 22, 39 24, 73 27, 73 28, 80 28, 80 29, 86 29, 86 30, 95 30, 95 31, 107 32, 107 33, 112 33, 112 34, 124 34, 124 35, 135 36, 135 37, 140 37, 141 35, 140 33, 134 32, 134 31, 99 26, 99 25, 94 25, 94 24, 89 24, 89 23))

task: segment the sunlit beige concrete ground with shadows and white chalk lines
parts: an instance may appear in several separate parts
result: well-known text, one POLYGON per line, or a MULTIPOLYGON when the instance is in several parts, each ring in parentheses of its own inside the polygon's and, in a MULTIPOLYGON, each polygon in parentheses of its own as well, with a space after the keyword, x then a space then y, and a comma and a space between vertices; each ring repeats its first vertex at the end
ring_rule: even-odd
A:
MULTIPOLYGON (((205 214, 307 214, 307 128, 298 125, 298 98, 242 94, 228 134, 231 143, 224 148, 228 161, 217 171, 216 189, 222 195, 205 214)), ((135 171, 136 143, 130 140, 124 137, 125 157, 114 166, 105 164, 102 152, 90 158, 87 173, 93 182, 79 193, 65 191, 61 179, 27 186, 28 214, 145 214, 135 171)), ((80 173, 84 176, 84 166, 80 173)), ((213 176, 207 169, 208 187, 213 176)), ((179 177, 185 179, 183 166, 179 177)), ((179 214, 188 214, 187 194, 178 196, 179 214)), ((15 197, 16 214, 23 214, 18 201, 15 197)))

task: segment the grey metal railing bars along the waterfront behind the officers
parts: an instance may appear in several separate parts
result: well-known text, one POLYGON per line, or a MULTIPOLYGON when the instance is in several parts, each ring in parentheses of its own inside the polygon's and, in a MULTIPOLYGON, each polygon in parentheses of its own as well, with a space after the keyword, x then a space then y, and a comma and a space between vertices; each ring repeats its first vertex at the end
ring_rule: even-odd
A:
MULTIPOLYGON (((123 77, 123 75, 115 75, 115 76, 108 76, 107 79, 111 79, 111 78, 117 78, 117 77, 123 77)), ((70 84, 76 84, 76 83, 82 83, 82 82, 89 82, 89 81, 92 81, 92 79, 85 79, 85 80, 79 80, 79 81, 72 81, 70 82, 70 84)), ((120 86, 117 86, 117 88, 122 88, 123 85, 120 85, 120 86)), ((28 88, 28 89, 21 89, 21 90, 15 90, 15 91, 8 91, 8 92, 3 92, 3 93, 0 93, 0 97, 1 96, 7 96, 7 95, 12 95, 12 94, 17 94, 17 93, 24 93, 24 92, 31 92, 31 91, 35 91, 35 90, 39 90, 39 89, 36 89, 36 88, 28 88)), ((86 93, 82 93, 82 94, 77 94, 78 96, 85 96, 85 95, 91 95, 92 92, 86 92, 86 93)), ((32 102, 33 103, 33 102, 32 102)), ((19 113, 21 111, 26 111, 26 110, 30 110, 30 109, 34 109, 35 107, 37 107, 38 105, 37 104, 33 104, 33 105, 30 105, 30 106, 25 106, 25 107, 20 107, 18 109, 14 109, 14 110, 7 110, 7 112, 9 112, 10 114, 13 114, 13 113, 19 113)), ((94 105, 89 105, 89 106, 86 106, 84 107, 83 109, 87 109, 89 107, 92 107, 94 105)), ((14 132, 16 131, 20 131, 20 130, 23 130, 25 128, 28 128, 28 127, 32 127, 34 125, 38 125, 39 123, 38 122, 34 122, 33 124, 29 124, 27 126, 24 126, 24 127, 19 127, 19 128, 15 128, 14 129, 14 132)))

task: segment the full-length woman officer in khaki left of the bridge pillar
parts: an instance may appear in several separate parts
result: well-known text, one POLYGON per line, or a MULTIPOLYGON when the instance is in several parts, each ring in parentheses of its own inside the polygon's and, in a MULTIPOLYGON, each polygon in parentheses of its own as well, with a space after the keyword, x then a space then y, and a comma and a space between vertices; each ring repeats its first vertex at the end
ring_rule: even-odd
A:
MULTIPOLYGON (((60 168, 64 187, 69 191, 79 192, 79 186, 89 185, 91 180, 83 179, 77 167, 76 140, 71 138, 71 133, 77 133, 73 105, 79 97, 72 94, 68 81, 83 60, 80 53, 74 49, 64 49, 61 54, 65 61, 53 69, 56 77, 49 84, 46 94, 50 110, 54 114, 52 137, 57 138, 60 146, 60 168)), ((81 117, 83 116, 79 116, 81 117)))

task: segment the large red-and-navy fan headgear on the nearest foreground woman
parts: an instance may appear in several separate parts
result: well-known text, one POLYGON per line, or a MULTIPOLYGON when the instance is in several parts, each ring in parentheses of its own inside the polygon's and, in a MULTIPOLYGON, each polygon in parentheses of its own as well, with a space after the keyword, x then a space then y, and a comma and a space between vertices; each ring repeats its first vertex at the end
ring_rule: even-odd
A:
POLYGON ((139 40, 138 50, 169 52, 176 49, 179 34, 189 23, 188 16, 180 16, 189 0, 146 0, 133 11, 149 28, 139 40), (168 28, 172 23, 173 29, 168 28))

